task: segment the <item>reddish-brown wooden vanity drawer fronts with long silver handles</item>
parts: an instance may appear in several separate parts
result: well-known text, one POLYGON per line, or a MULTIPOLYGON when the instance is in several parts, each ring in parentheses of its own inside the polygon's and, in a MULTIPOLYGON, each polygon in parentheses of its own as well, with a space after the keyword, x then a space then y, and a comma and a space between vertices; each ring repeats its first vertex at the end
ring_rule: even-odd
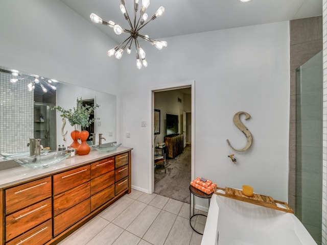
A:
POLYGON ((0 188, 0 245, 57 244, 131 192, 131 151, 0 188))

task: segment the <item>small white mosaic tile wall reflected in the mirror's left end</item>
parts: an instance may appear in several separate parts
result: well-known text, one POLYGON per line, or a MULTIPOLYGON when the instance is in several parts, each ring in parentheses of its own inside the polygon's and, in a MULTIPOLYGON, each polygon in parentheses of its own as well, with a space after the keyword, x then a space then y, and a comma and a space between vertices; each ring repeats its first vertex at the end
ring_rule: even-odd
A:
POLYGON ((11 83, 10 74, 0 72, 0 152, 29 151, 33 138, 34 93, 29 81, 11 83))

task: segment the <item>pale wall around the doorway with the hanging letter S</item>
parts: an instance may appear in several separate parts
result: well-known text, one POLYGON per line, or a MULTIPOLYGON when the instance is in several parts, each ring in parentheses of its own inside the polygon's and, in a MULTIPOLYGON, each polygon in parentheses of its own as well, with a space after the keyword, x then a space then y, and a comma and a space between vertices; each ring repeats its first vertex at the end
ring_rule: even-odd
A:
MULTIPOLYGON (((123 57, 128 72, 120 84, 122 143, 133 147, 132 185, 150 191, 151 90, 195 80, 195 177, 218 186, 254 191, 287 201, 289 135, 289 23, 278 22, 167 38, 158 51, 143 44, 149 66, 137 70, 123 57), (253 144, 246 144, 232 117, 246 111, 253 144), (126 138, 126 132, 131 138, 126 138), (237 164, 227 157, 235 153, 237 164)), ((244 120, 244 118, 243 118, 244 120)))

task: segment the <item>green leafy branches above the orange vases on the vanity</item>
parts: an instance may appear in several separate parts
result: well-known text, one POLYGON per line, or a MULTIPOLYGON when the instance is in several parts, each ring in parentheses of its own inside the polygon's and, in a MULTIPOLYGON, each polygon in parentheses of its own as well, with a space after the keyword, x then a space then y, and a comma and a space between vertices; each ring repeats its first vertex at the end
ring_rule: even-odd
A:
POLYGON ((92 122, 100 118, 90 119, 91 112, 95 111, 99 107, 98 104, 95 106, 83 105, 82 98, 76 100, 76 107, 73 109, 64 109, 61 106, 55 106, 52 109, 61 112, 60 116, 66 118, 71 126, 74 126, 77 130, 78 126, 81 126, 82 130, 88 128, 92 122))

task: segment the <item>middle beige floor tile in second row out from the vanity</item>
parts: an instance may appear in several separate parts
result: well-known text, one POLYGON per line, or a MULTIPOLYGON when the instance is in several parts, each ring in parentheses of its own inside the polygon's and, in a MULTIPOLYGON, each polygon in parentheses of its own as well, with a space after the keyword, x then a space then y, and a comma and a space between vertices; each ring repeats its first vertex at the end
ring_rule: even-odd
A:
POLYGON ((112 223, 119 227, 126 229, 133 220, 145 209, 147 205, 145 203, 135 201, 129 205, 120 215, 118 215, 112 223))

